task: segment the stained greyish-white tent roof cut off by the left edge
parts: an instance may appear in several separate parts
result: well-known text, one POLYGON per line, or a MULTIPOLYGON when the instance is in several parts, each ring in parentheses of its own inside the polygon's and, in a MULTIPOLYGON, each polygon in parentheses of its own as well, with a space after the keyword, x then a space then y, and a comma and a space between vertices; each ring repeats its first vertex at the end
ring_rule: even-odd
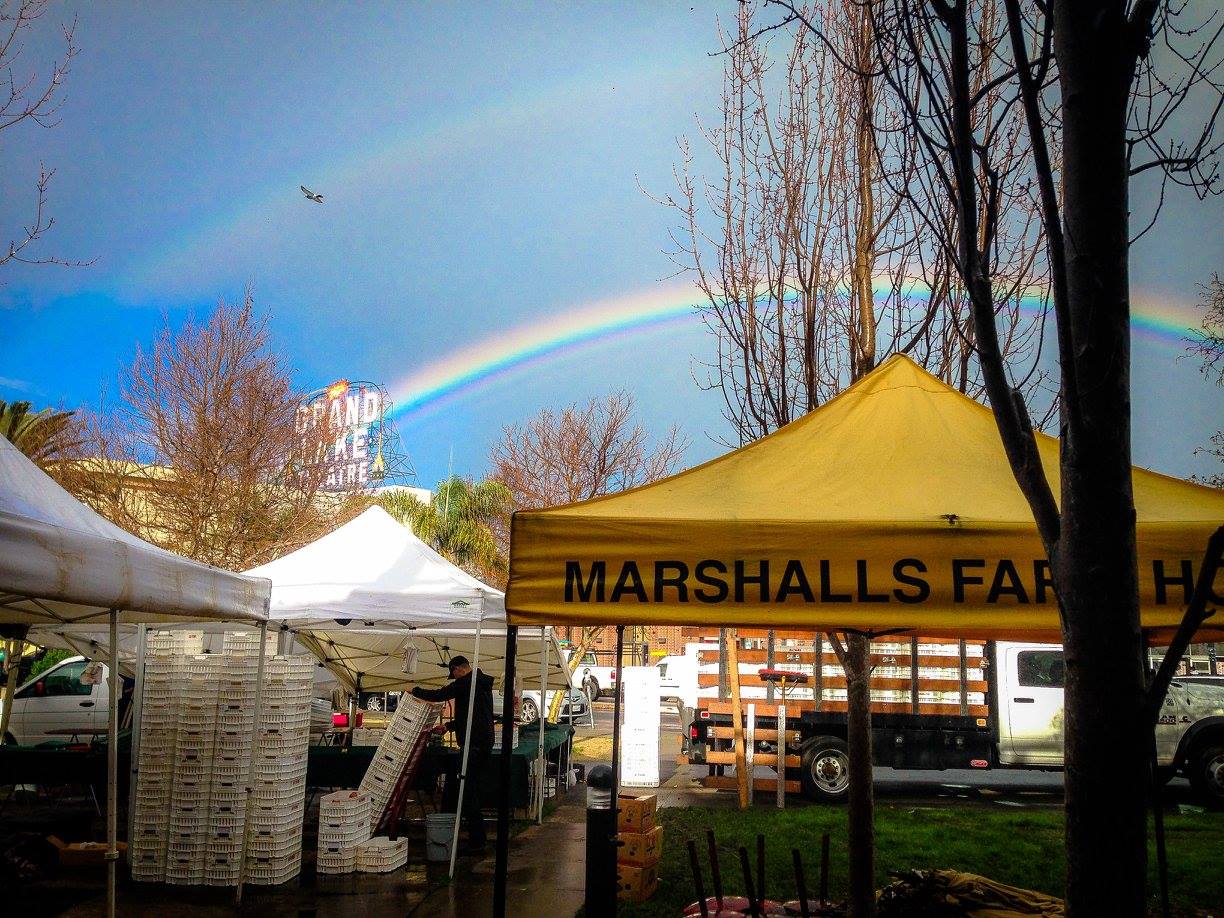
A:
POLYGON ((99 517, 0 437, 0 623, 263 621, 268 583, 158 548, 99 517))

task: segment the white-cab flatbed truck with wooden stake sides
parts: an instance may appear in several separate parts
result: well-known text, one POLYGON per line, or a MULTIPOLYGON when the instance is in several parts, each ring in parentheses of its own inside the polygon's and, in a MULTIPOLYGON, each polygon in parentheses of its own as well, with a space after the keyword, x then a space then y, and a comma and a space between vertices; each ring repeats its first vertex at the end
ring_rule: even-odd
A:
MULTIPOLYGON (((957 665, 945 645, 919 647, 913 670, 908 650, 873 649, 875 764, 1061 769, 1062 649, 1004 641, 971 649, 976 652, 967 655, 961 644, 957 665)), ((789 668, 804 666, 810 670, 805 663, 789 668)), ((804 796, 836 802, 845 799, 849 787, 846 689, 838 667, 825 661, 821 668, 823 681, 813 685, 809 679, 787 703, 787 750, 798 754, 798 767, 788 767, 787 776, 799 781, 804 796), (813 704, 816 693, 823 701, 819 707, 813 704)), ((776 731, 777 706, 755 704, 758 730, 776 731)), ((703 696, 690 727, 689 760, 710 765, 711 774, 725 767, 733 752, 728 709, 703 696)), ((1157 761, 1164 775, 1185 775, 1200 798, 1224 807, 1224 687, 1175 679, 1155 732, 1157 761)), ((758 748, 767 753, 772 747, 758 743, 758 748)))

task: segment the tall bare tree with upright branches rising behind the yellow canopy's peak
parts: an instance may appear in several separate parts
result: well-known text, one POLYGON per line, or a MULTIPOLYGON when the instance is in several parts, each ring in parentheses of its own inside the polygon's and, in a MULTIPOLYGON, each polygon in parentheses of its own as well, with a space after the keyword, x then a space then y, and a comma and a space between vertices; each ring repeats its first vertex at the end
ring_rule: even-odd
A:
MULTIPOLYGON (((998 9, 987 5, 998 21, 998 9)), ((783 22, 756 23, 742 5, 723 39, 722 121, 703 131, 718 171, 693 174, 682 142, 682 269, 705 294, 718 350, 706 384, 721 390, 739 443, 823 404, 890 354, 908 354, 971 395, 982 392, 976 332, 955 252, 933 242, 930 212, 949 209, 922 182, 905 100, 876 67, 871 7, 814 0, 783 22), (799 24, 799 28, 786 29, 799 24), (775 58, 771 42, 789 40, 775 58)), ((976 82, 996 93, 988 71, 976 82)), ((1006 106, 980 118, 1023 163, 1023 120, 1006 106)), ((1037 370, 1047 300, 1040 223, 1027 188, 998 198, 1000 283, 993 313, 1004 349, 1037 370), (1033 306, 1026 313, 1023 307, 1033 306)), ((851 908, 874 908, 869 634, 830 635, 847 677, 851 763, 851 908)))

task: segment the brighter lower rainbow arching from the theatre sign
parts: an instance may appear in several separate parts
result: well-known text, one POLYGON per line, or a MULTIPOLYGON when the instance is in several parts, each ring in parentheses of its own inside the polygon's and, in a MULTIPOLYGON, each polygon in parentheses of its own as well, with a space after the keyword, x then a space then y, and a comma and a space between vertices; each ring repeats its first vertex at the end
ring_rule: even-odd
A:
MULTIPOLYGON (((873 284, 876 295, 890 290, 886 280, 873 284)), ((922 299, 925 291, 907 289, 907 296, 922 299)), ((389 387, 394 416, 415 421, 437 409, 513 375, 575 351, 622 340, 628 337, 670 329, 695 328, 698 307, 706 300, 689 285, 651 288, 607 300, 584 304, 507 332, 476 341, 428 364, 389 387)), ((1037 296, 1024 296, 1021 306, 1036 311, 1037 296)), ((1131 329, 1137 339, 1182 350, 1197 333, 1192 307, 1155 301, 1138 295, 1133 302, 1131 329)))

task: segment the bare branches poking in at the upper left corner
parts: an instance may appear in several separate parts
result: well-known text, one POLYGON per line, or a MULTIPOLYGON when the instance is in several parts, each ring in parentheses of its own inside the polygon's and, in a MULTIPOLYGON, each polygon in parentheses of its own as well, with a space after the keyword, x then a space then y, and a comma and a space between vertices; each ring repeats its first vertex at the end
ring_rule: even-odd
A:
MULTIPOLYGON (((61 26, 64 50, 51 64, 50 76, 39 80, 37 72, 18 76, 16 67, 24 49, 24 33, 33 28, 47 12, 48 0, 0 0, 0 72, 7 77, 7 88, 0 89, 0 132, 21 124, 29 122, 39 127, 54 127, 59 124, 60 106, 64 104, 64 80, 67 77, 72 59, 80 50, 76 45, 76 22, 61 26)), ((55 225, 55 218, 48 213, 47 190, 50 186, 54 169, 39 165, 34 193, 34 212, 9 245, 0 250, 0 267, 20 262, 22 264, 66 264, 83 266, 89 262, 72 262, 53 256, 35 255, 32 246, 55 225)))

